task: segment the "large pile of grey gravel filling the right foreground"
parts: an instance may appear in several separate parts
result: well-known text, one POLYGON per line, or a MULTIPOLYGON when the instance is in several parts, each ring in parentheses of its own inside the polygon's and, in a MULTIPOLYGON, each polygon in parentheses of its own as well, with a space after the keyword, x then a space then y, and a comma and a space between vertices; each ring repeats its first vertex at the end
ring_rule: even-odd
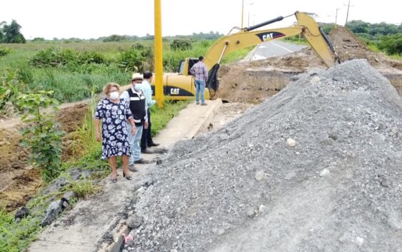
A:
POLYGON ((402 101, 365 60, 176 145, 130 251, 402 251, 402 101))

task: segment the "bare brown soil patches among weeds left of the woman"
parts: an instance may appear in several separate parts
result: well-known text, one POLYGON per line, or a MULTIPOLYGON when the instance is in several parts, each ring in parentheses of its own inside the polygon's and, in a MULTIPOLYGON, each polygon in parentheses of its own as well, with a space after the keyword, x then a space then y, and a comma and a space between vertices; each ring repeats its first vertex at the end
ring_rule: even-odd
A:
MULTIPOLYGON (((64 136, 63 158, 71 155, 69 150, 70 133, 81 126, 87 111, 87 101, 62 104, 58 121, 66 132, 64 136)), ((0 121, 0 201, 7 211, 13 211, 29 201, 39 188, 44 185, 39 170, 29 162, 29 152, 19 144, 23 124, 18 118, 0 121)))

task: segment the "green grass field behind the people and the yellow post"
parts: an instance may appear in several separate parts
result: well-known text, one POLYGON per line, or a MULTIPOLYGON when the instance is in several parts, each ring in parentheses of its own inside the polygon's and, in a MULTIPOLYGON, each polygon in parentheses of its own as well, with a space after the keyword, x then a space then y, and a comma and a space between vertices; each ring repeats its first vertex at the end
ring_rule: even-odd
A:
MULTIPOLYGON (((152 41, 140 43, 152 49, 152 41)), ((11 49, 11 53, 0 57, 0 73, 6 70, 16 71, 19 69, 28 91, 54 90, 54 98, 61 102, 79 101, 89 98, 91 91, 101 92, 101 88, 108 82, 129 84, 132 74, 131 69, 122 69, 121 54, 130 50, 133 42, 99 42, 81 41, 78 43, 44 42, 27 44, 0 44, 0 47, 11 49), (37 67, 31 63, 31 59, 40 51, 50 48, 72 49, 79 52, 95 52, 106 63, 104 64, 67 64, 56 67, 37 67), (71 71, 71 66, 74 70, 71 71)), ((174 72, 178 69, 179 62, 186 57, 198 57, 205 55, 213 41, 196 41, 192 49, 173 51, 169 42, 164 44, 164 71, 174 72)), ((251 49, 243 49, 226 56, 223 64, 242 59, 251 49)), ((136 59, 132 59, 135 61, 136 59)), ((141 59, 140 59, 141 60, 141 59)), ((147 57, 143 61, 149 62, 146 70, 153 70, 153 58, 147 57)))

